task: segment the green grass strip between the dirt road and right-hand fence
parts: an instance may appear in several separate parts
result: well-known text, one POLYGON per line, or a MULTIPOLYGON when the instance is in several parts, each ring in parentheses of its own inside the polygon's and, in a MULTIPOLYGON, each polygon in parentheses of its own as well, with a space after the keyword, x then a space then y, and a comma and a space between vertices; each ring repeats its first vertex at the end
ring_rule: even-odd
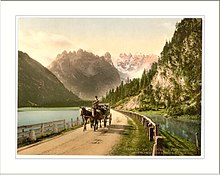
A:
POLYGON ((128 129, 124 130, 122 139, 111 155, 115 156, 146 156, 152 154, 153 142, 148 140, 144 127, 135 118, 128 119, 128 129))

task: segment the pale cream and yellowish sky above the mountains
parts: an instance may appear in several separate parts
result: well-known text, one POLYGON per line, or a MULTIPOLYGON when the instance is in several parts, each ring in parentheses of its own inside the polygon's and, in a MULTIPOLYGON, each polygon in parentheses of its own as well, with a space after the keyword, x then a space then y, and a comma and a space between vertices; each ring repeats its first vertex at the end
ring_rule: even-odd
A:
POLYGON ((79 48, 99 56, 110 52, 113 61, 120 53, 159 55, 170 40, 180 18, 146 17, 20 17, 18 49, 44 66, 57 56, 79 48))

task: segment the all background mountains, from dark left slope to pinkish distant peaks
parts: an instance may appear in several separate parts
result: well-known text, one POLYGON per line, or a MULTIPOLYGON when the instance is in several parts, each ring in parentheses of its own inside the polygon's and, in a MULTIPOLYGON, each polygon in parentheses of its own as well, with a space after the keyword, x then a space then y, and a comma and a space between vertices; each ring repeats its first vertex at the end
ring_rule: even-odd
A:
POLYGON ((101 98, 117 87, 121 80, 126 82, 134 78, 155 61, 155 55, 120 54, 116 68, 109 52, 98 56, 79 49, 63 51, 45 68, 28 54, 19 51, 19 107, 69 106, 79 103, 81 99, 94 99, 96 95, 101 98))

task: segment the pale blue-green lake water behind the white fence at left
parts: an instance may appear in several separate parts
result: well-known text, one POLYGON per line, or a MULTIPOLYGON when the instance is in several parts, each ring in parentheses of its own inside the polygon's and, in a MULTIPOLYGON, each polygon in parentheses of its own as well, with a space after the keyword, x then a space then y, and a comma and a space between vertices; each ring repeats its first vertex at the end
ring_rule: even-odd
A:
MULTIPOLYGON (((32 125, 65 119, 66 122, 75 121, 79 117, 79 110, 43 110, 18 112, 18 126, 32 125)), ((81 117, 79 117, 81 120, 81 117)))

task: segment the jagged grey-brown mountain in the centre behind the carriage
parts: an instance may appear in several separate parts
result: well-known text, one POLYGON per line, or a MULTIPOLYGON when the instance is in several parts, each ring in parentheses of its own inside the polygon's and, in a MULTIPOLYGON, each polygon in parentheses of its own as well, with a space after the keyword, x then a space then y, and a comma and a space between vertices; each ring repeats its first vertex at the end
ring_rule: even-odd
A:
POLYGON ((97 56, 79 49, 77 52, 63 51, 48 66, 48 69, 80 98, 91 100, 101 97, 121 82, 110 53, 97 56))

